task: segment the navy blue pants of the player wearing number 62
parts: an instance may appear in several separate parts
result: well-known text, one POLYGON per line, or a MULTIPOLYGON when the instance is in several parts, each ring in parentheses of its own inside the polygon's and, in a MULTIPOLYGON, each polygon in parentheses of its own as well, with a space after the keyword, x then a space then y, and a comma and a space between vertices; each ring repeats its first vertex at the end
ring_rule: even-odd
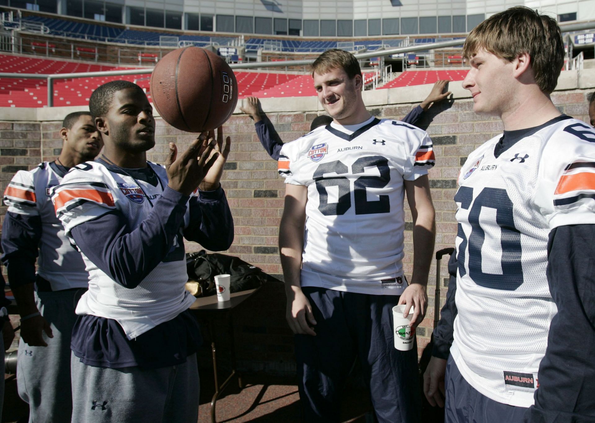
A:
POLYGON ((418 423, 421 409, 417 345, 394 349, 394 295, 304 287, 317 336, 296 334, 302 419, 337 422, 342 388, 356 357, 380 423, 418 423))

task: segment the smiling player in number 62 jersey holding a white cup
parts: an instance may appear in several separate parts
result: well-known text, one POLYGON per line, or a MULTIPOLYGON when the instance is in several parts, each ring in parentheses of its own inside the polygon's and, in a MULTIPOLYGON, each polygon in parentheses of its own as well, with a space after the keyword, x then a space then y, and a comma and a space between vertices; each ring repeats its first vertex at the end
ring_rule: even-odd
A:
POLYGON ((283 145, 278 162, 286 182, 279 245, 302 417, 337 421, 358 355, 378 421, 418 422, 417 348, 394 348, 392 308, 406 304, 408 314, 414 306, 414 326, 426 311, 435 233, 431 140, 417 127, 369 115, 349 52, 324 52, 312 76, 333 123, 283 145), (409 283, 405 193, 414 222, 409 283))

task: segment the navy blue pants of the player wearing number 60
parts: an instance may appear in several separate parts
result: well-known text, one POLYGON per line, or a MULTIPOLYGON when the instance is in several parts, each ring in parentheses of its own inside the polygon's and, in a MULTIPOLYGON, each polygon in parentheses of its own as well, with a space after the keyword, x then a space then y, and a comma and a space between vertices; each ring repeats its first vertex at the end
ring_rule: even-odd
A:
POLYGON ((515 407, 489 399, 465 380, 452 356, 444 377, 445 423, 522 423, 527 408, 515 407))

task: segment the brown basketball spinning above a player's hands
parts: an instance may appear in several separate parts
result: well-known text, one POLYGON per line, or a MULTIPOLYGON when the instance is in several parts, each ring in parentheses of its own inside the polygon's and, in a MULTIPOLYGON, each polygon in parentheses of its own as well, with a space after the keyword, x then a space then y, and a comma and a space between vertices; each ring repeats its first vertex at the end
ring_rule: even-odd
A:
POLYGON ((236 108, 236 76, 210 51, 179 48, 155 66, 151 98, 171 126, 188 132, 208 131, 220 127, 236 108))

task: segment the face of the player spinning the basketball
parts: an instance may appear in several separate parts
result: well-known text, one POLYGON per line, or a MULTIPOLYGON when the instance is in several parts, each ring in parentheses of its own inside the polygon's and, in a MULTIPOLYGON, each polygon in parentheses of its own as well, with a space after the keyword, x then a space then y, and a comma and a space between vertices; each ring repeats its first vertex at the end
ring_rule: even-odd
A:
POLYGON ((96 118, 105 136, 106 148, 129 154, 145 152, 155 146, 153 106, 140 89, 126 88, 114 93, 107 114, 96 118))

